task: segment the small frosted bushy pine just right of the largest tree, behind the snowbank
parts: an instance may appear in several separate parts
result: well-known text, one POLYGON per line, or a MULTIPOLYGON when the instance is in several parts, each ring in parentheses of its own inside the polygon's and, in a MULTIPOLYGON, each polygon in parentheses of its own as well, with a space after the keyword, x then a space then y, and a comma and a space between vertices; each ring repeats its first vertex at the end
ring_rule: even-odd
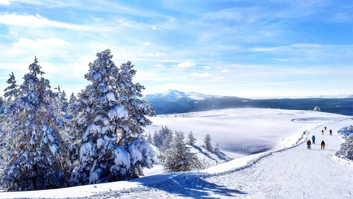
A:
POLYGON ((184 143, 184 133, 175 132, 170 148, 163 153, 164 172, 192 171, 196 168, 196 153, 192 153, 190 148, 184 143))

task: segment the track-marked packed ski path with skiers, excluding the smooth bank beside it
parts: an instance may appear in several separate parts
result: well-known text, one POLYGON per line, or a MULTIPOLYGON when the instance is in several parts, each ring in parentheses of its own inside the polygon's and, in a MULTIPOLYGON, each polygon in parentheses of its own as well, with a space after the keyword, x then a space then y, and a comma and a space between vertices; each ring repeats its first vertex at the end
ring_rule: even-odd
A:
MULTIPOLYGON (((315 118, 306 118, 313 122, 315 118)), ((319 118, 318 120, 322 120, 319 118)), ((303 122, 303 119, 301 120, 303 122)), ((104 192, 93 198, 353 198, 353 170, 335 160, 342 139, 336 130, 347 119, 325 118, 309 132, 317 144, 308 150, 306 141, 275 152, 251 167, 216 175, 180 175, 171 180, 139 188, 104 192), (341 120, 341 121, 340 121, 341 120), (334 123, 330 123, 334 122, 334 123), (321 135, 324 126, 335 129, 321 135), (321 141, 326 143, 321 150, 321 141)))

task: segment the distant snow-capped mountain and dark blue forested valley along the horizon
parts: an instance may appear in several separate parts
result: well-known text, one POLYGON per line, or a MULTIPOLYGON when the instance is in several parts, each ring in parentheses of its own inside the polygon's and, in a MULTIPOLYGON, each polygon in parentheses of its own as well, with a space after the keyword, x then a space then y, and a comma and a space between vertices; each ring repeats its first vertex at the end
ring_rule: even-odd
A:
MULTIPOLYGON (((322 112, 353 115, 353 97, 340 98, 284 98, 284 99, 249 99, 231 96, 205 95, 197 92, 167 90, 145 95, 156 109, 156 114, 198 112, 226 108, 280 108, 290 110, 312 110, 316 106, 322 112)), ((331 97, 331 96, 330 96, 331 97)))

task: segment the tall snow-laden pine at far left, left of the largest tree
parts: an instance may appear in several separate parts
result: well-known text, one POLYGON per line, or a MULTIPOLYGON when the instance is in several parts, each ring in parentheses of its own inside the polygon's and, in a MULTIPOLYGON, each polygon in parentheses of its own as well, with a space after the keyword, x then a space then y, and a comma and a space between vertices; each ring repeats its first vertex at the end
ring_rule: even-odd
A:
POLYGON ((8 160, 1 176, 8 191, 65 187, 68 162, 59 133, 64 123, 56 115, 49 80, 37 77, 44 74, 37 63, 35 58, 19 92, 6 94, 14 98, 6 114, 8 160))

